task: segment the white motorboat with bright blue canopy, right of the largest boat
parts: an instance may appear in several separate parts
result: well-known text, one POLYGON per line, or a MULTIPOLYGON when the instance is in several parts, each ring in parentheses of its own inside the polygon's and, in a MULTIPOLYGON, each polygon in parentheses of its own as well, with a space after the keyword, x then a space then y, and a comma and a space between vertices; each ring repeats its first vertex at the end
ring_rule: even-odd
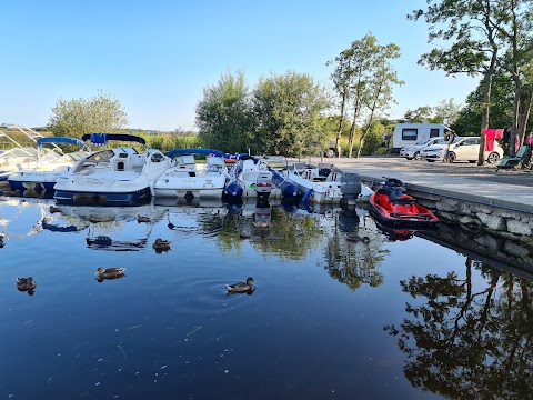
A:
POLYGON ((211 149, 174 149, 167 154, 171 167, 155 181, 155 197, 222 198, 229 177, 224 153, 211 149), (197 163, 195 154, 207 156, 197 163))

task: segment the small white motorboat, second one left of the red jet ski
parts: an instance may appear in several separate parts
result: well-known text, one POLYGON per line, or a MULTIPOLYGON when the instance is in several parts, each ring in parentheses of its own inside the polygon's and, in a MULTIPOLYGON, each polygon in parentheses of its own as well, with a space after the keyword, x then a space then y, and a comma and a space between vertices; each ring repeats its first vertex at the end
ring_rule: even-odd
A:
POLYGON ((269 196, 281 198, 282 191, 275 188, 272 171, 266 161, 241 154, 230 170, 224 196, 228 200, 253 197, 266 199, 269 196))

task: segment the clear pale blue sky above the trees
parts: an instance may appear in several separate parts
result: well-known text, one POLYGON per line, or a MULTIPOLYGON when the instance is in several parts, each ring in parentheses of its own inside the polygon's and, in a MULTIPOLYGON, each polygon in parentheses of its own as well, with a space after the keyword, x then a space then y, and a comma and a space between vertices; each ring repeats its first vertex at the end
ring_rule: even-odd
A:
POLYGON ((425 0, 2 0, 0 1, 0 123, 46 126, 58 99, 115 97, 130 127, 194 127, 203 88, 242 70, 259 77, 288 70, 326 82, 325 62, 369 31, 394 42, 396 88, 408 109, 453 98, 464 103, 479 79, 450 78, 416 64, 424 22, 405 16, 425 0))

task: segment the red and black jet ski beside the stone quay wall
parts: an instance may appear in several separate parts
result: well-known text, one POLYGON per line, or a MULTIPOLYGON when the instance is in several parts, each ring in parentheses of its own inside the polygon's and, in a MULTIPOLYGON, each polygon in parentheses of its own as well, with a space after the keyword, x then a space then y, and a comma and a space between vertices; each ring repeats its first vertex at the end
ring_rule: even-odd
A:
POLYGON ((389 178, 383 187, 370 197, 372 214, 389 226, 424 227, 439 222, 433 212, 404 194, 405 186, 399 179, 389 178))

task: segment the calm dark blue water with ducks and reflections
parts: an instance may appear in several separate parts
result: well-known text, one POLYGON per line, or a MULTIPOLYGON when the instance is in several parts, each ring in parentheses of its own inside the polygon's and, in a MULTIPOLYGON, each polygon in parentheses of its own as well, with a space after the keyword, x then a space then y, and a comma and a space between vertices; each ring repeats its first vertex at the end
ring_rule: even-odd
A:
POLYGON ((483 254, 364 209, 51 204, 0 197, 0 399, 533 392, 532 282, 483 254), (99 267, 127 271, 99 282, 99 267), (228 294, 248 277, 252 294, 228 294))

